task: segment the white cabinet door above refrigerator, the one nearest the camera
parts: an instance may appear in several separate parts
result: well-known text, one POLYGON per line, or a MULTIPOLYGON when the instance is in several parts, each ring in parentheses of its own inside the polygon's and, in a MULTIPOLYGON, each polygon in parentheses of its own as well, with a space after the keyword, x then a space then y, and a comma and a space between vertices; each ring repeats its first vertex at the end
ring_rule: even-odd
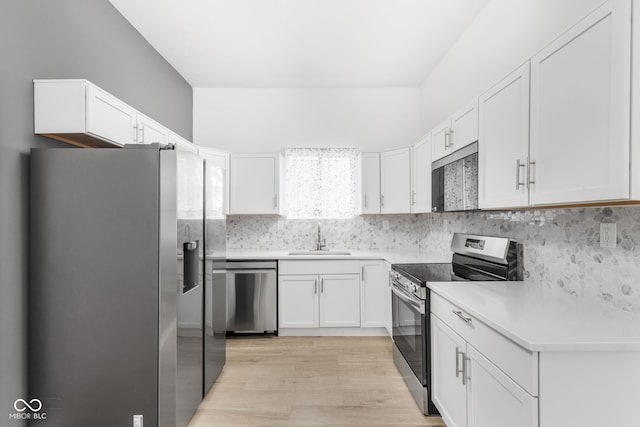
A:
POLYGON ((86 97, 88 133, 120 145, 135 143, 136 110, 91 84, 86 97))

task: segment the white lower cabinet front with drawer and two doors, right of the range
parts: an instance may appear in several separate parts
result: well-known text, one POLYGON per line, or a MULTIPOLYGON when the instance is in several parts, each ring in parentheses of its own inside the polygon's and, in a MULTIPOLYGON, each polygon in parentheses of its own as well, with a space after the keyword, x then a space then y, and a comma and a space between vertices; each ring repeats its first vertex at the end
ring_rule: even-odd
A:
POLYGON ((432 302, 432 393, 447 426, 538 426, 537 386, 528 382, 537 377, 537 353, 524 351, 437 295, 432 302), (501 356, 490 360, 483 352, 501 356), (502 357, 508 361, 504 365, 502 357), (514 378, 525 378, 533 394, 514 378))

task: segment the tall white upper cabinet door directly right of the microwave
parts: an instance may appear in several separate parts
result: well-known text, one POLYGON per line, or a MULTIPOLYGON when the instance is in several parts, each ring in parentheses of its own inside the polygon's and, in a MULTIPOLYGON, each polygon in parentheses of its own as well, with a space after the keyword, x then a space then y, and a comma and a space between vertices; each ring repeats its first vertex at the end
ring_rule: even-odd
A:
POLYGON ((527 206, 529 61, 480 96, 478 205, 527 206))

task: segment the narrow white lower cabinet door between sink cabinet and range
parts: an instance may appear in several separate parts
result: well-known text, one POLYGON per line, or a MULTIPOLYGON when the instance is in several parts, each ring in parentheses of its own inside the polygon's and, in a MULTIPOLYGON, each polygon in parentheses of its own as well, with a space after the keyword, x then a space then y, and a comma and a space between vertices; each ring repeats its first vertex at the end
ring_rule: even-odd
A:
POLYGON ((383 261, 363 262, 361 267, 361 325, 363 328, 385 327, 386 316, 391 307, 387 297, 389 293, 387 269, 383 261))

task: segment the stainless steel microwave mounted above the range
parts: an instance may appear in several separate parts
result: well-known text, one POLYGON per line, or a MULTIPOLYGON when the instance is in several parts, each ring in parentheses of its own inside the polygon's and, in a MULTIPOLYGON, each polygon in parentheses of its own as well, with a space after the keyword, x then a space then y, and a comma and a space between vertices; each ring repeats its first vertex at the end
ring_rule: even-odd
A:
POLYGON ((478 209, 478 143, 433 162, 431 178, 433 212, 478 209))

